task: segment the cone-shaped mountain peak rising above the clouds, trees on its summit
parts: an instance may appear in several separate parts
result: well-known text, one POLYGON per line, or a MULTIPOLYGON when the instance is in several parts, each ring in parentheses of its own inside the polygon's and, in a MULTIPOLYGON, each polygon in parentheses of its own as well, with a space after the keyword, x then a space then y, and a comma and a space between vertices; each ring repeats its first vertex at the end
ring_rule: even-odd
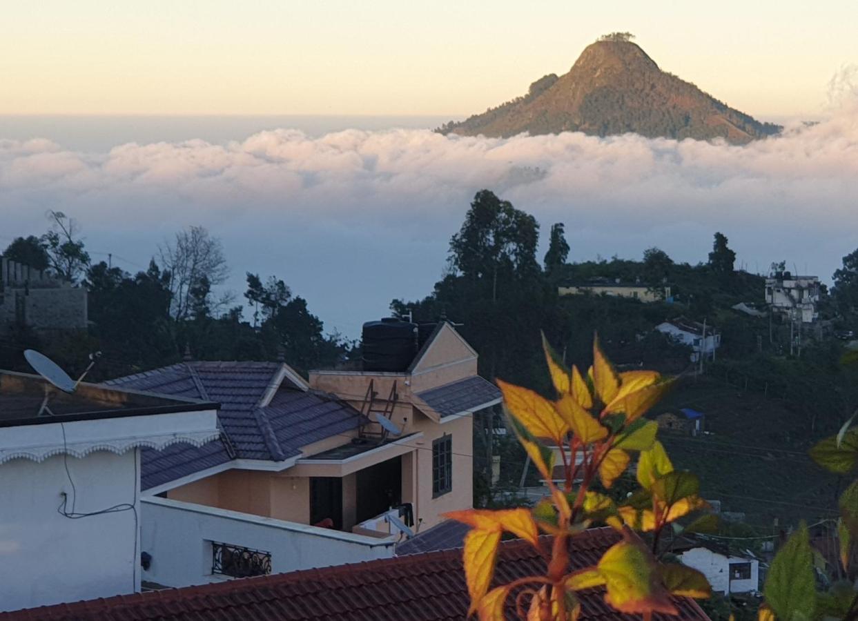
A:
POLYGON ((659 69, 631 35, 614 33, 589 45, 565 75, 546 75, 529 92, 443 134, 515 136, 581 131, 593 136, 633 132, 650 138, 724 138, 745 144, 781 128, 760 123, 659 69))

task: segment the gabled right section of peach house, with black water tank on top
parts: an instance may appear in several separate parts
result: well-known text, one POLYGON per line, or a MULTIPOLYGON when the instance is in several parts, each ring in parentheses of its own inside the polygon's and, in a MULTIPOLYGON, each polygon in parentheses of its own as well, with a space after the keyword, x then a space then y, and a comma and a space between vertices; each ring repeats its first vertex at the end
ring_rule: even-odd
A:
POLYGON ((500 391, 477 374, 477 353, 450 322, 389 319, 365 324, 363 336, 360 370, 310 371, 310 385, 412 437, 401 467, 366 485, 390 480, 412 505, 415 524, 430 528, 446 511, 472 505, 474 415, 491 415, 500 391))

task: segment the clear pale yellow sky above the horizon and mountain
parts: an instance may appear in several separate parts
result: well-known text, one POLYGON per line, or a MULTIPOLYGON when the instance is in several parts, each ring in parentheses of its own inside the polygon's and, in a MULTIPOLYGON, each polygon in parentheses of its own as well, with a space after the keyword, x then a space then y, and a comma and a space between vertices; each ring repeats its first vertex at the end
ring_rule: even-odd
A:
POLYGON ((730 106, 817 118, 827 81, 858 61, 855 0, 7 4, 0 114, 460 118, 629 31, 730 106))

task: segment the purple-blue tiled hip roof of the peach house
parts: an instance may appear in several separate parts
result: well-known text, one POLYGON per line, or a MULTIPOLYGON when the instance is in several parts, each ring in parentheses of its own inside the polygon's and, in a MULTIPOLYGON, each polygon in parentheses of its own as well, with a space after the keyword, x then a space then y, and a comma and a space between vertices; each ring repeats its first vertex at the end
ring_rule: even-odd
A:
POLYGON ((343 401, 305 391, 287 377, 265 407, 263 396, 281 377, 274 362, 183 362, 106 382, 125 389, 195 397, 221 404, 222 442, 201 448, 176 444, 142 453, 142 489, 219 466, 235 458, 283 461, 306 444, 351 431, 360 413, 343 401), (231 451, 234 450, 233 455, 231 451))

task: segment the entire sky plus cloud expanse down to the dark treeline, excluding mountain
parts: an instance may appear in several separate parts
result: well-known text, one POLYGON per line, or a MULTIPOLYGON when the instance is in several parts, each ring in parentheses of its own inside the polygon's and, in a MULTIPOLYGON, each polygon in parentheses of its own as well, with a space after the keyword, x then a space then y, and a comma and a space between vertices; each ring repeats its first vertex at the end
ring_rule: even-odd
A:
POLYGON ((540 256, 554 222, 573 261, 658 246, 704 262, 721 231, 737 268, 830 282, 858 247, 855 0, 27 4, 0 22, 0 249, 57 209, 95 260, 134 272, 201 225, 237 303, 246 272, 276 275, 356 338, 432 291, 484 188, 535 215, 540 256), (738 147, 428 129, 611 31, 786 130, 738 147))

